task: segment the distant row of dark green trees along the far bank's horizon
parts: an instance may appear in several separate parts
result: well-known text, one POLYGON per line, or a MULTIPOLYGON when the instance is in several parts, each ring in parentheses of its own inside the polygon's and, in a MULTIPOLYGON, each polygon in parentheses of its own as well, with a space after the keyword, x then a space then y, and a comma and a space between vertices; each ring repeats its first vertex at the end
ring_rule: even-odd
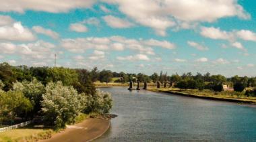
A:
MULTIPOLYGON (((248 76, 232 76, 225 77, 221 74, 211 75, 209 72, 206 74, 198 73, 193 75, 191 72, 184 73, 182 75, 172 74, 168 75, 167 72, 160 71, 160 74, 154 72, 154 74, 148 76, 146 74, 127 74, 125 72, 111 72, 110 70, 98 70, 94 68, 91 72, 93 76, 93 82, 97 80, 100 82, 110 82, 113 77, 119 78, 115 82, 160 82, 164 86, 172 86, 180 88, 182 90, 188 89, 210 89, 216 92, 221 92, 224 90, 223 85, 226 84, 236 92, 242 92, 247 87, 255 88, 256 87, 256 77, 248 76)), ((247 90, 247 96, 256 96, 256 91, 247 90)))

